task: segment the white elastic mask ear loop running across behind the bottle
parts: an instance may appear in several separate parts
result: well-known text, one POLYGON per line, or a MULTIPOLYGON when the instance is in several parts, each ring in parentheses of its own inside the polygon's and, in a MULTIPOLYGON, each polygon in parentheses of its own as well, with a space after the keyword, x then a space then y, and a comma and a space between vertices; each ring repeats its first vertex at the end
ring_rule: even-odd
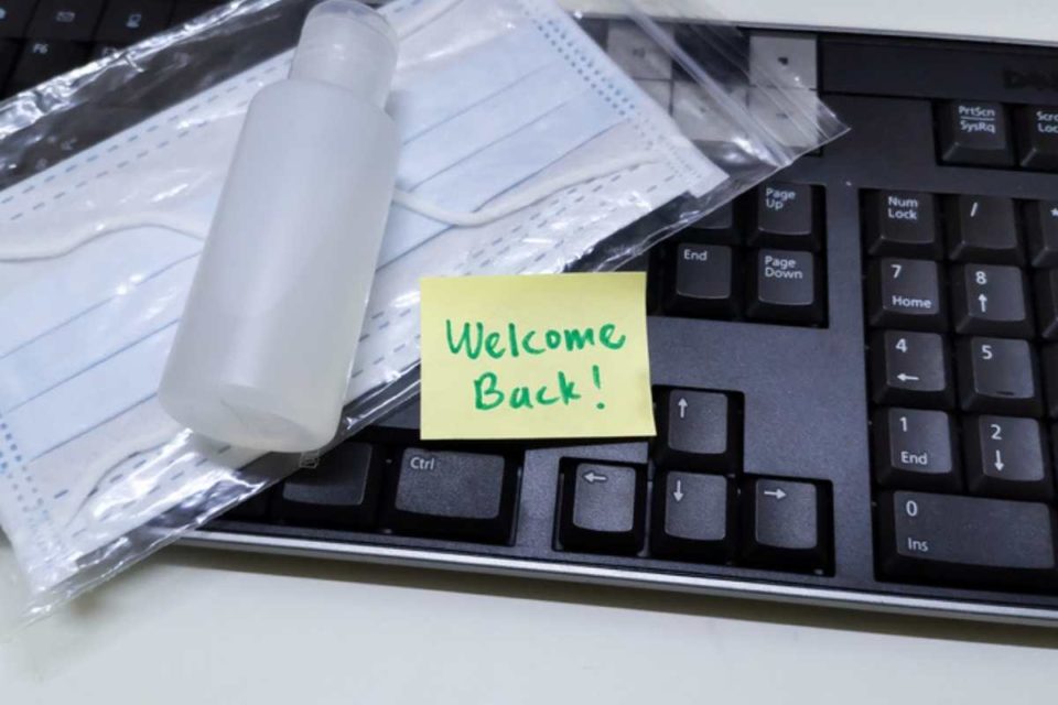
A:
MULTIPOLYGON (((471 228, 499 220, 571 186, 659 161, 661 160, 652 152, 633 152, 565 174, 559 174, 507 197, 500 197, 495 205, 486 206, 479 210, 449 210, 427 198, 400 189, 393 192, 393 203, 440 223, 471 228)), ((0 236, 0 262, 54 259, 68 254, 106 235, 148 227, 179 232, 196 240, 205 240, 209 230, 208 225, 199 220, 163 212, 132 213, 114 218, 102 218, 82 228, 56 227, 54 230, 61 230, 57 234, 54 230, 50 231, 48 228, 33 227, 26 224, 21 228, 21 231, 11 232, 9 229, 7 234, 0 236)))

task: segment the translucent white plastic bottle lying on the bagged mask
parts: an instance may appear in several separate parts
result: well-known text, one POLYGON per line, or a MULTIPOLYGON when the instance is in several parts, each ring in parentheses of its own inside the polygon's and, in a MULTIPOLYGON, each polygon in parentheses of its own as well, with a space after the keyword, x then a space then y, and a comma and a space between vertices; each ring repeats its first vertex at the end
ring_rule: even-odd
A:
POLYGON ((246 122, 159 392, 203 435, 310 451, 334 435, 397 171, 386 20, 326 0, 246 122))

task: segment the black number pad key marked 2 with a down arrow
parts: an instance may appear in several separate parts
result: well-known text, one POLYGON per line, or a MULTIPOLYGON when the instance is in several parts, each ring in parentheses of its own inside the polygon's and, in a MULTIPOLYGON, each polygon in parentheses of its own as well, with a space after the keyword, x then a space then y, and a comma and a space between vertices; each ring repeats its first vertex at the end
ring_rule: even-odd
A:
POLYGON ((1038 421, 969 416, 963 434, 971 492, 1041 501, 1054 497, 1050 456, 1038 421))

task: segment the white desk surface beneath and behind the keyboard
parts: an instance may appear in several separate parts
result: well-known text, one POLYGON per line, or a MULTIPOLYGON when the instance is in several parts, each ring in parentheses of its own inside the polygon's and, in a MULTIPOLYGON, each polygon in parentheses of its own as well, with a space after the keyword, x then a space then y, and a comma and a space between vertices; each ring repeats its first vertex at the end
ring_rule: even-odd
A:
MULTIPOLYGON (((1058 40, 1054 0, 712 4, 1058 40)), ((995 705, 1054 702, 1058 630, 170 549, 0 636, 0 703, 995 705)))

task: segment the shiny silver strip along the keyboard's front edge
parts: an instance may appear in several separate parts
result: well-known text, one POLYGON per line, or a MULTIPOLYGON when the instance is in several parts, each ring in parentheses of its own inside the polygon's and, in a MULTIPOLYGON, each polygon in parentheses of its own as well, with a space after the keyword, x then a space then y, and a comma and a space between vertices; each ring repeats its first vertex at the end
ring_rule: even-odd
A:
POLYGON ((409 567, 431 567, 573 583, 666 589, 714 597, 767 599, 780 603, 820 607, 844 607, 920 617, 947 617, 1014 625, 1058 627, 1058 610, 1018 607, 1014 605, 973 604, 937 598, 900 597, 883 595, 881 593, 694 577, 678 573, 647 573, 641 571, 603 568, 523 558, 499 558, 495 556, 442 551, 309 541, 281 536, 253 536, 220 531, 196 531, 185 536, 181 543, 183 545, 208 549, 231 549, 255 553, 337 558, 409 567))

